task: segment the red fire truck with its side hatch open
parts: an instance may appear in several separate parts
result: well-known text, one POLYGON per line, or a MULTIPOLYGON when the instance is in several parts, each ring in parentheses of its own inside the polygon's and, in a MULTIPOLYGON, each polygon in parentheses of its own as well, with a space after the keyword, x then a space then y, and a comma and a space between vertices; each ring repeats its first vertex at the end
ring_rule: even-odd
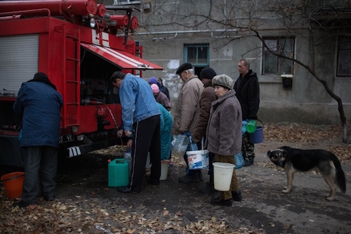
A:
POLYGON ((44 72, 62 94, 60 156, 121 143, 118 91, 123 70, 142 77, 163 68, 143 60, 131 34, 133 7, 95 0, 0 1, 0 164, 22 167, 13 103, 22 82, 44 72))

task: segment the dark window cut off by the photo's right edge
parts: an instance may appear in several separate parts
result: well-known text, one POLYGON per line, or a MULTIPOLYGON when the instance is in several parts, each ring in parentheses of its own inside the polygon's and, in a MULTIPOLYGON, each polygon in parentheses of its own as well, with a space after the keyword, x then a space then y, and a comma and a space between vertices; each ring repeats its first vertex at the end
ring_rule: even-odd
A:
POLYGON ((351 37, 338 37, 338 69, 339 77, 351 76, 351 37))

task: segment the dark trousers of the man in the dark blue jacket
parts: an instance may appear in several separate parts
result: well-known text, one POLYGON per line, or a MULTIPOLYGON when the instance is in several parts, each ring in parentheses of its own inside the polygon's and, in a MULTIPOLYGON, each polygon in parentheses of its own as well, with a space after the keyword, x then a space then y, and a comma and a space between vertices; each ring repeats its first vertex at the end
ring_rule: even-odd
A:
POLYGON ((22 159, 25 163, 22 202, 36 204, 40 190, 46 199, 53 199, 58 170, 58 150, 51 146, 23 147, 22 159))

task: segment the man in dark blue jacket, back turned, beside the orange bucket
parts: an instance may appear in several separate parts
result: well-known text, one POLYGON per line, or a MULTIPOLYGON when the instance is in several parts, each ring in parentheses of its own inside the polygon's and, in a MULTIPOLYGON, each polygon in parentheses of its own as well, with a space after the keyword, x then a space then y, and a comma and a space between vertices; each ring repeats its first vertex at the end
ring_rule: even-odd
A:
POLYGON ((18 91, 13 110, 22 123, 20 147, 25 164, 21 201, 15 203, 19 207, 36 204, 40 191, 45 200, 54 199, 62 104, 62 96, 42 72, 18 91))

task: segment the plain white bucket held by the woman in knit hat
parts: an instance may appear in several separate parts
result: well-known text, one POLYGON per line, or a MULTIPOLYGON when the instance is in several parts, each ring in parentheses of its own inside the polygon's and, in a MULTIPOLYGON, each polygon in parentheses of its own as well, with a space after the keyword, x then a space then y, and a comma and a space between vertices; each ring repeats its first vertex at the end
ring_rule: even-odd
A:
POLYGON ((227 162, 213 162, 213 183, 216 190, 230 190, 234 167, 234 164, 227 162))

